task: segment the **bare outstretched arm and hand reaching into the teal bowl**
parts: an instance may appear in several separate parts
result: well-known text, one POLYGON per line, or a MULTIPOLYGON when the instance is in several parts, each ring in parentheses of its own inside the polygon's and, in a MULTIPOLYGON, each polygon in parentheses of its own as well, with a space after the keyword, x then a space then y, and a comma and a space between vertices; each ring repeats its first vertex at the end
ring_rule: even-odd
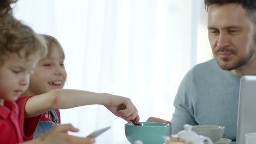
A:
POLYGON ((130 119, 136 118, 137 122, 139 121, 138 111, 129 98, 74 89, 54 89, 31 97, 25 106, 25 117, 34 117, 52 109, 68 109, 92 104, 104 105, 115 116, 129 123, 130 119), (126 109, 118 111, 120 104, 125 104, 126 109))

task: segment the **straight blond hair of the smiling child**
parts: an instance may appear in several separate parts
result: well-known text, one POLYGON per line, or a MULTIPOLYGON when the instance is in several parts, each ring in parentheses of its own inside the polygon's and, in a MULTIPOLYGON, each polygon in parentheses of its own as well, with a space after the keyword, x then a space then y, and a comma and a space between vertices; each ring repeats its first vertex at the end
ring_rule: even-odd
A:
POLYGON ((62 49, 61 44, 59 43, 59 41, 56 38, 52 37, 51 35, 47 35, 47 34, 40 34, 40 35, 43 37, 45 44, 47 46, 48 53, 47 53, 46 57, 52 53, 53 49, 51 49, 51 48, 52 48, 53 44, 55 44, 57 46, 57 49, 59 49, 59 51, 61 52, 63 59, 65 59, 65 53, 62 49))

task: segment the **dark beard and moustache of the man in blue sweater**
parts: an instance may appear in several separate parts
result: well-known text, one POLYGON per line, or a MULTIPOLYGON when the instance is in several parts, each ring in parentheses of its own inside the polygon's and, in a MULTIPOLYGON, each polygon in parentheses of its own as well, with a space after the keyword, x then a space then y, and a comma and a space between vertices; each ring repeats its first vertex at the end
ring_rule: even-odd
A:
MULTIPOLYGON (((254 43, 253 45, 250 47, 249 49, 249 53, 246 53, 245 57, 238 57, 238 59, 235 62, 229 62, 230 59, 229 58, 223 58, 222 61, 218 61, 217 62, 219 64, 219 67, 222 68, 223 70, 234 70, 237 68, 242 67, 243 65, 247 64, 249 61, 251 61, 252 57, 254 56, 255 52, 256 52, 256 35, 254 35, 254 43)), ((215 53, 217 54, 218 52, 231 52, 232 54, 236 54, 235 50, 228 50, 228 49, 219 49, 217 50, 215 53)))

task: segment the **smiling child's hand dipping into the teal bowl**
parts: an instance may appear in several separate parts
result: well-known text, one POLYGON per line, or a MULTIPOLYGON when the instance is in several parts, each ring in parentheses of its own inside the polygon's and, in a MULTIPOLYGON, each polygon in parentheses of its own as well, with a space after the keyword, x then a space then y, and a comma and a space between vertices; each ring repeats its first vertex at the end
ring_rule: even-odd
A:
POLYGON ((105 106, 107 107, 108 110, 114 113, 115 116, 125 119, 125 121, 127 121, 128 123, 131 123, 130 120, 135 118, 136 118, 136 122, 139 123, 138 111, 135 105, 133 105, 131 99, 112 95, 112 97, 110 97, 109 105, 105 105, 105 106), (124 110, 118 110, 118 106, 120 104, 125 105, 124 110))

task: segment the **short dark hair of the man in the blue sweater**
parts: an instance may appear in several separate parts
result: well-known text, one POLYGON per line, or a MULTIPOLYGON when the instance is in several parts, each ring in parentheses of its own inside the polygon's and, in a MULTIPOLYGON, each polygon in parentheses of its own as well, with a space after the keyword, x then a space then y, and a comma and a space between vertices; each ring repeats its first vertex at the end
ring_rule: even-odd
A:
POLYGON ((246 10, 246 14, 251 19, 252 22, 256 23, 256 0, 205 0, 205 8, 208 11, 208 8, 212 4, 238 4, 242 5, 242 7, 246 10))

